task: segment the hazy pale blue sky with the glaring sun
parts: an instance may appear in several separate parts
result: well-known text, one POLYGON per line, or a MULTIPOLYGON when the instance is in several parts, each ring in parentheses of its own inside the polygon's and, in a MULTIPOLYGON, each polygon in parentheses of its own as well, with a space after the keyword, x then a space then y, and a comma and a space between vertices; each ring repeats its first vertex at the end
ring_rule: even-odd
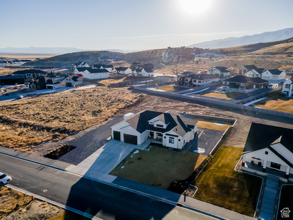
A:
POLYGON ((292 28, 284 15, 292 8, 292 0, 1 0, 0 48, 188 46, 292 28))

